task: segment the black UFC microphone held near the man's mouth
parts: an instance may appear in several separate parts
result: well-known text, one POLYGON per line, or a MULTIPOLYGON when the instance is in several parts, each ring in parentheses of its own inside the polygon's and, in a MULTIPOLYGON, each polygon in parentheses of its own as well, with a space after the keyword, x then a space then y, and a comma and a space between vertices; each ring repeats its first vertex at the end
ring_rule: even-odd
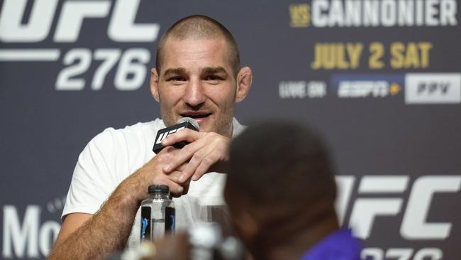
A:
MULTIPOLYGON (((157 137, 155 137, 155 143, 154 147, 152 148, 152 151, 154 153, 159 153, 162 151, 165 146, 162 146, 162 141, 163 139, 167 138, 170 134, 174 134, 177 131, 181 131, 182 129, 192 129, 194 131, 199 131, 200 126, 197 124, 197 122, 194 119, 191 119, 190 117, 183 117, 182 119, 179 119, 177 124, 174 126, 169 126, 164 129, 160 129, 157 131, 157 137)), ((174 143, 174 147, 176 148, 183 148, 185 145, 187 145, 187 141, 180 141, 178 143, 174 143)))

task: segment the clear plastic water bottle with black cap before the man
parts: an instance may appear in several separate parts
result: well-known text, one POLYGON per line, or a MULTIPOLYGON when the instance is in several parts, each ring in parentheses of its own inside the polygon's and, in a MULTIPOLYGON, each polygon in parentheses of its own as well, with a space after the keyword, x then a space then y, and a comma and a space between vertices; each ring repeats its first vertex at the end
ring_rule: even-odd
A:
POLYGON ((141 242, 155 241, 174 233, 175 210, 167 185, 150 185, 148 198, 141 202, 141 242))

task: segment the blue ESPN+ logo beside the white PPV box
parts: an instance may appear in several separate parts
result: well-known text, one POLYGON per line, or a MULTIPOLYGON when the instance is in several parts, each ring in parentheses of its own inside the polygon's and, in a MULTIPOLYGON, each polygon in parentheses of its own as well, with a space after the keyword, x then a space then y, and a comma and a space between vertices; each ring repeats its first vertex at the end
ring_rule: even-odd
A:
POLYGON ((332 85, 340 98, 396 96, 403 88, 404 75, 333 75, 332 85))

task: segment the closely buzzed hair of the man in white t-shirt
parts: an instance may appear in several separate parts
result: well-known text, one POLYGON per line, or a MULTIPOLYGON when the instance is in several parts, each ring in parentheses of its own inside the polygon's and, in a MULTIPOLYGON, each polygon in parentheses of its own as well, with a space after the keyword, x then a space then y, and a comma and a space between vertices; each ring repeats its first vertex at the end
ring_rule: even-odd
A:
POLYGON ((240 54, 238 52, 238 45, 235 38, 221 23, 209 16, 203 15, 193 15, 182 18, 174 23, 168 31, 163 34, 162 38, 160 38, 155 57, 155 67, 159 75, 163 58, 162 50, 165 47, 167 38, 170 37, 177 38, 179 40, 188 38, 209 39, 223 37, 223 39, 226 40, 226 43, 228 43, 230 65, 233 69, 233 75, 234 77, 237 76, 238 71, 240 70, 240 54))

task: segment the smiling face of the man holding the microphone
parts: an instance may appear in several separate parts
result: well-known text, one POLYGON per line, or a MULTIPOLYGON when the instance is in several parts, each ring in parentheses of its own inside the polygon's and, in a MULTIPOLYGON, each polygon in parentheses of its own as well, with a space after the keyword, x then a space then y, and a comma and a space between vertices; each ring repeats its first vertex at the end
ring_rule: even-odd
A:
POLYGON ((165 125, 191 117, 200 131, 231 136, 237 82, 226 41, 168 38, 162 53, 157 94, 155 88, 152 94, 165 125))

